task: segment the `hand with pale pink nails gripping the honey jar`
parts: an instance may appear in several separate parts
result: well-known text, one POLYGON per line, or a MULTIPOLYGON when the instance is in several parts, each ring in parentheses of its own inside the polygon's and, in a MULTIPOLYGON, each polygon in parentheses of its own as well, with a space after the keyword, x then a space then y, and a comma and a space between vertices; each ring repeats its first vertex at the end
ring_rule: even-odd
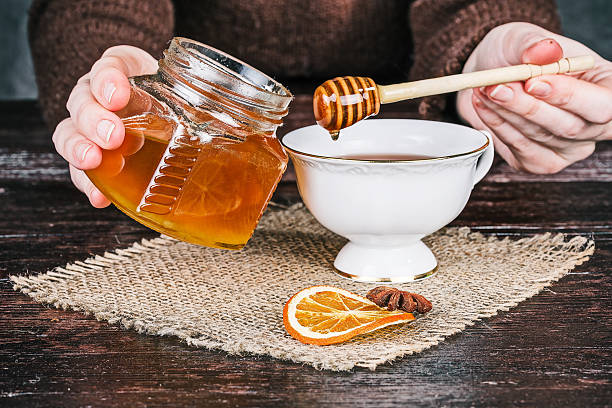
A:
POLYGON ((101 149, 116 149, 123 143, 123 122, 113 112, 130 100, 128 77, 156 71, 157 60, 146 51, 119 45, 107 49, 72 89, 66 103, 70 117, 55 128, 53 143, 70 165, 72 182, 94 207, 106 207, 110 201, 83 170, 100 165, 101 149))

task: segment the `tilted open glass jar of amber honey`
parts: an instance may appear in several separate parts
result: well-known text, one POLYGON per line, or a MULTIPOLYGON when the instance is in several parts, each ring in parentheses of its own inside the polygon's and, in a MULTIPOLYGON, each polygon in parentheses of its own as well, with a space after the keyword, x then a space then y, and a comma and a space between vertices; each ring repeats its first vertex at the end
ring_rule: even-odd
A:
POLYGON ((86 173, 121 211, 179 240, 240 249, 287 166, 276 129, 292 95, 214 48, 174 38, 130 78, 125 140, 86 173))

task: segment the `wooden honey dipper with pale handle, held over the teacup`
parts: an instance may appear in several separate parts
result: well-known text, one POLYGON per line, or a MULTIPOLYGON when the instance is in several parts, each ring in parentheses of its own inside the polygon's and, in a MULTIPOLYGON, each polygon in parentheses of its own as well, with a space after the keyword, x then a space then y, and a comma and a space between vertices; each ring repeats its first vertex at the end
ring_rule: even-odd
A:
POLYGON ((461 91, 469 88, 526 81, 540 75, 564 74, 593 68, 590 55, 562 58, 548 65, 522 64, 449 75, 394 85, 376 85, 371 78, 338 77, 323 82, 313 97, 317 123, 338 139, 340 129, 378 114, 380 104, 461 91))

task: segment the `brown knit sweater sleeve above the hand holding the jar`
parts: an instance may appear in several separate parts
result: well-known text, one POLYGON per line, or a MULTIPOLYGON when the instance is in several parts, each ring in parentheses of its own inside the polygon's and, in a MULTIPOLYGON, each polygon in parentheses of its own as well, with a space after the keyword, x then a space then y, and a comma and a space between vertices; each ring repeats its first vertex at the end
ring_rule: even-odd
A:
POLYGON ((68 116, 76 81, 108 47, 133 45, 157 57, 173 30, 171 0, 34 0, 28 34, 47 124, 68 116))

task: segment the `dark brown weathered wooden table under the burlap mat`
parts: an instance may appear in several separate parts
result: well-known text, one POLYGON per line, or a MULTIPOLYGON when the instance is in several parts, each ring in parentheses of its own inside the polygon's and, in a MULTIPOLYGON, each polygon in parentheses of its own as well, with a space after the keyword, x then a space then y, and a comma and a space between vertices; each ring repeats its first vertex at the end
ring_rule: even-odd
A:
MULTIPOLYGON (((389 105, 392 106, 392 105, 389 105)), ((409 117, 413 104, 385 108, 409 117)), ((313 123, 299 96, 282 132, 313 123)), ((277 202, 299 200, 291 173, 277 202)), ((612 144, 554 176, 498 161, 453 225, 596 241, 592 259, 509 312, 375 372, 228 356, 58 311, 14 292, 45 272, 156 233, 72 187, 33 102, 0 103, 0 406, 610 406, 612 144)))

